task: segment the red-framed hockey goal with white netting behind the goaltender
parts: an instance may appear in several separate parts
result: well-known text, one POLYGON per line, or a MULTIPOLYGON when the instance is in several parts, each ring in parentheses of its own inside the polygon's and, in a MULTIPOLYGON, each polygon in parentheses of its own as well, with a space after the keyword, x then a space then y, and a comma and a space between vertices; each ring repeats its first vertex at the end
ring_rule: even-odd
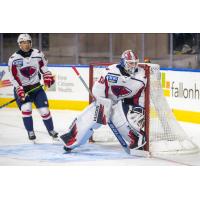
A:
MULTIPOLYGON (((112 63, 90 63, 89 88, 92 90, 94 82, 100 77, 102 68, 112 63)), ((199 147, 176 121, 161 86, 160 66, 151 63, 139 63, 145 70, 147 86, 145 88, 145 127, 147 144, 145 150, 152 155, 187 154, 199 152, 199 147)), ((90 102, 92 98, 90 97, 90 102)), ((104 126, 96 130, 93 135, 96 141, 116 141, 109 128, 104 126)))

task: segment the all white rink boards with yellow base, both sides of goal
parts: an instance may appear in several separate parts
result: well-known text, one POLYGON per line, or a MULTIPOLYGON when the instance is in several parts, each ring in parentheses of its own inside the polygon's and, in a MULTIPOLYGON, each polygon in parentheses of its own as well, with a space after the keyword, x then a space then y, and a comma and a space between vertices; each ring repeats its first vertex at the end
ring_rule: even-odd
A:
MULTIPOLYGON (((72 70, 74 65, 49 65, 56 83, 47 91, 51 109, 82 110, 89 104, 89 95, 72 70)), ((75 65, 89 84, 89 65, 75 65)), ((0 105, 13 98, 7 65, 0 66, 0 105)), ((200 124, 200 70, 161 69, 164 95, 177 120, 200 124)), ((10 104, 8 107, 16 107, 10 104)))

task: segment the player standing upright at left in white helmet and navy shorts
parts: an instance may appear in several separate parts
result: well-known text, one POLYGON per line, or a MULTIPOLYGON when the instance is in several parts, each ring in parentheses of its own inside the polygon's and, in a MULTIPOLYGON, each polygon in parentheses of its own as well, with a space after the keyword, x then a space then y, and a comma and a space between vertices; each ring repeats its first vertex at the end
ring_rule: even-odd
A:
POLYGON ((54 131, 48 99, 40 84, 41 76, 47 87, 51 87, 55 82, 52 73, 47 68, 47 60, 41 51, 32 48, 32 39, 29 34, 20 34, 17 43, 19 50, 10 57, 8 67, 10 80, 14 86, 14 96, 17 98, 17 105, 21 110, 28 137, 30 140, 36 139, 32 119, 33 102, 39 110, 49 135, 57 138, 58 133, 54 131), (33 91, 26 96, 25 94, 30 90, 33 91))

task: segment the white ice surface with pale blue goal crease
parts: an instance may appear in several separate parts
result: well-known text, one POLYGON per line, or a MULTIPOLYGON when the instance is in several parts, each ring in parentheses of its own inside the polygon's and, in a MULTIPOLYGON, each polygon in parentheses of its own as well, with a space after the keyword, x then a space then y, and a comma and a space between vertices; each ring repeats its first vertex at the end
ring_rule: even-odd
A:
MULTIPOLYGON (((79 112, 51 111, 55 130, 65 133, 79 112)), ((52 143, 40 115, 33 110, 37 144, 32 144, 23 127, 18 109, 0 110, 0 165, 200 165, 200 155, 170 156, 167 158, 140 158, 127 155, 120 144, 85 144, 72 153, 65 153, 61 143, 52 143)), ((181 123, 191 132, 191 138, 200 144, 200 126, 181 123)))

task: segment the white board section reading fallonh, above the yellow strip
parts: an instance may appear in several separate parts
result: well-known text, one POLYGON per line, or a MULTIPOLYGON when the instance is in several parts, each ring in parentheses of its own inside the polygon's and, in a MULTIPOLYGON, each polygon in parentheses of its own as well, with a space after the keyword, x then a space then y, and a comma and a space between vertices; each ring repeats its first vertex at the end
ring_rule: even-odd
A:
MULTIPOLYGON (((168 90, 166 96, 171 108, 200 112, 200 71, 161 70, 162 79, 165 73, 163 90, 168 90)), ((162 80, 164 81, 164 80, 162 80)))

